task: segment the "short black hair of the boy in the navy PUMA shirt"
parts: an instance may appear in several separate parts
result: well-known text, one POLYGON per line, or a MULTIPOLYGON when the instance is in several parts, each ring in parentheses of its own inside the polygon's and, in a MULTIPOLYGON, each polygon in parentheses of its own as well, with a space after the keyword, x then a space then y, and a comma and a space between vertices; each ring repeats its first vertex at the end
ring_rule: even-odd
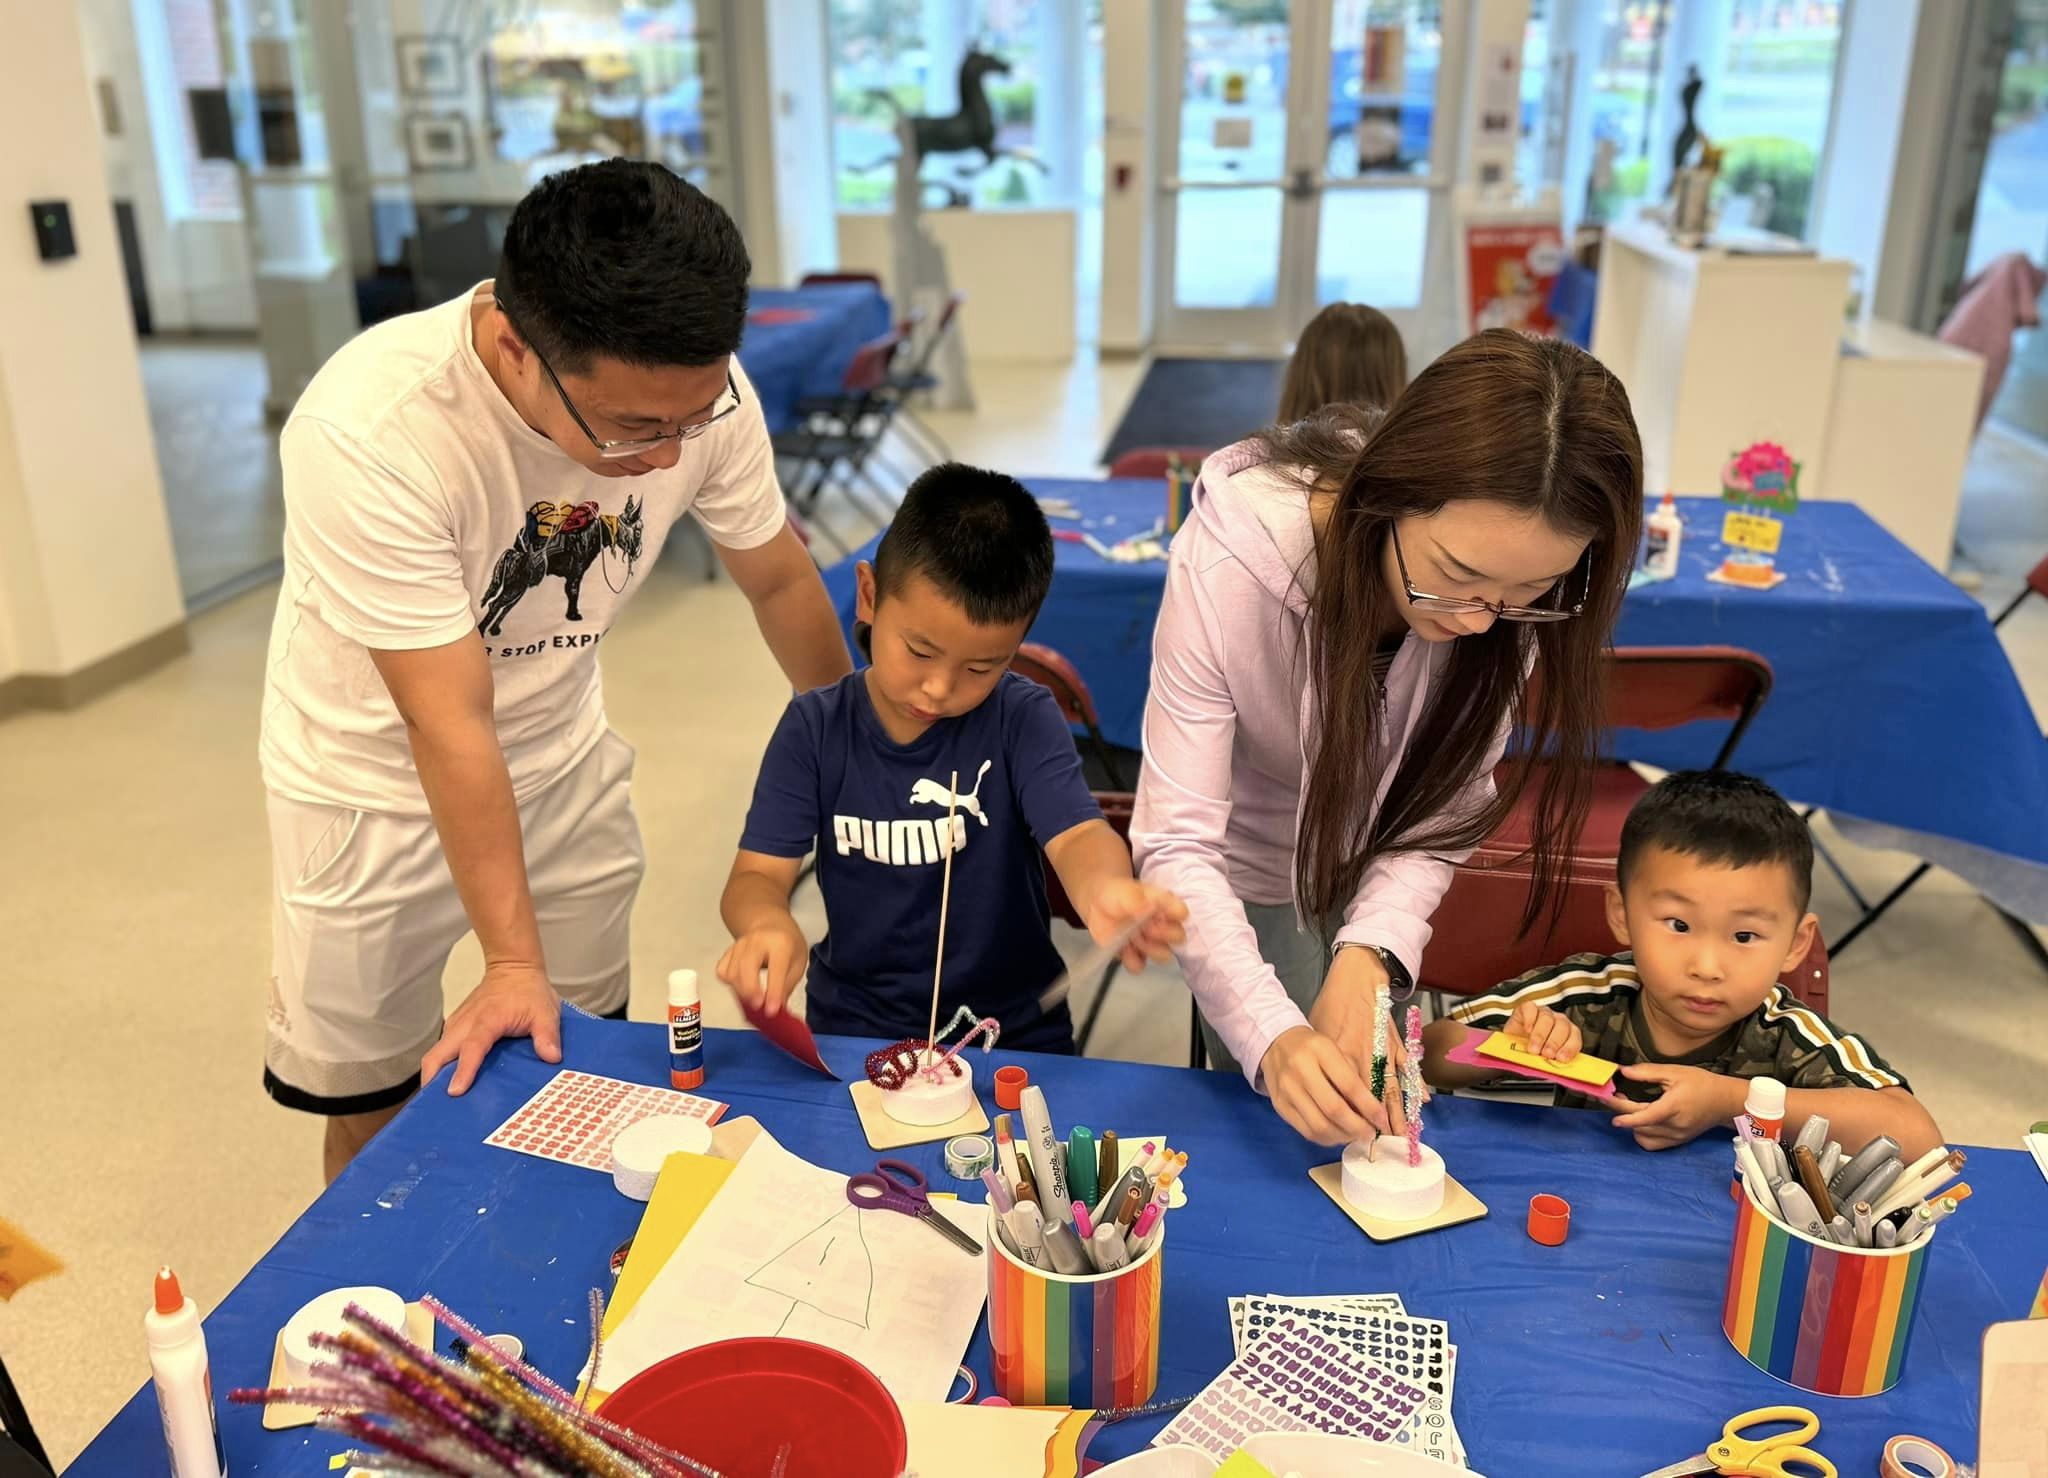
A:
POLYGON ((1053 530, 1016 477, 940 463, 903 493, 874 551, 877 602, 911 575, 977 626, 1028 622, 1053 588, 1053 530))

